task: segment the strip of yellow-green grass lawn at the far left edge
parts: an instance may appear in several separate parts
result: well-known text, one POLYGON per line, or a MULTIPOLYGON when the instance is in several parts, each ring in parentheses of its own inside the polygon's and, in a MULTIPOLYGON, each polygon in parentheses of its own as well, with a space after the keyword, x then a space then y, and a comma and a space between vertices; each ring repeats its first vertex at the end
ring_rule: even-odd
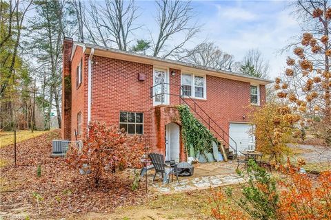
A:
MULTIPOLYGON (((23 142, 32 137, 37 137, 48 131, 34 131, 33 133, 30 130, 21 130, 16 131, 16 142, 23 142)), ((14 144, 14 131, 1 131, 0 132, 0 148, 10 144, 14 144)))

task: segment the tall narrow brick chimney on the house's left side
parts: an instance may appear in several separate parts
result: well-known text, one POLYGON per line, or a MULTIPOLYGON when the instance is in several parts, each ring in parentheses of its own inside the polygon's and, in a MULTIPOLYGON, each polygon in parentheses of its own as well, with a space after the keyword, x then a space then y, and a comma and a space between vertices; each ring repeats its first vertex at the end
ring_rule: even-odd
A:
POLYGON ((73 40, 63 39, 63 72, 62 72, 62 126, 61 137, 70 140, 71 137, 71 52, 73 40))

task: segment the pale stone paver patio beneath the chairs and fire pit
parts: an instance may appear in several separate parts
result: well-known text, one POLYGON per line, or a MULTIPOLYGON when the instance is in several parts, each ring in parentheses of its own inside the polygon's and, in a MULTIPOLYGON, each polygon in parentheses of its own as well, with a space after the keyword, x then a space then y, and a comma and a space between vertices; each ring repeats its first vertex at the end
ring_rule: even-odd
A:
POLYGON ((205 164, 194 164, 194 175, 192 177, 179 177, 179 182, 171 181, 163 184, 161 177, 157 176, 152 183, 154 170, 148 175, 148 185, 150 190, 161 193, 177 193, 190 190, 201 190, 210 187, 239 184, 244 181, 235 172, 237 162, 213 162, 205 164))

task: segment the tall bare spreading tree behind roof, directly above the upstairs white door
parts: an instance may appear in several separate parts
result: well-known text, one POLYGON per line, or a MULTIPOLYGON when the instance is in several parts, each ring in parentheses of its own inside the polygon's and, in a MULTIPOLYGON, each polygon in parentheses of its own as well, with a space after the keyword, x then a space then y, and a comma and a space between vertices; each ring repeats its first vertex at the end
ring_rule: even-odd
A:
POLYGON ((152 37, 153 56, 176 56, 183 52, 182 49, 197 32, 199 26, 194 23, 190 25, 194 17, 191 1, 156 1, 157 4, 157 25, 159 26, 159 34, 156 39, 152 37), (177 34, 184 34, 181 41, 178 41, 173 46, 169 45, 169 41, 174 40, 177 34))

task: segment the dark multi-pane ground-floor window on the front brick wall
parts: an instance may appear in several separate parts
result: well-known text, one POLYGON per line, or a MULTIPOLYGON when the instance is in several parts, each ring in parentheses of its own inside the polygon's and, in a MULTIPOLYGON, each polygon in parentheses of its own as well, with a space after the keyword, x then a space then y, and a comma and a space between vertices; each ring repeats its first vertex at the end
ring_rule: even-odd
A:
POLYGON ((119 128, 129 134, 143 134, 143 113, 121 111, 119 113, 119 128))

